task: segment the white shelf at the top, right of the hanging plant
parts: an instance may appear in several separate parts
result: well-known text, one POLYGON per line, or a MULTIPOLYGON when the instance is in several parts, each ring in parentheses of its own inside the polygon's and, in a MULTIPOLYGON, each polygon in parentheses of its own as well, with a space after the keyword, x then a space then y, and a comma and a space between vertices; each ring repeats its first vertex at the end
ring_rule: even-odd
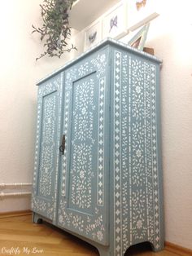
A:
POLYGON ((87 27, 120 0, 78 0, 69 12, 69 24, 73 29, 87 27))

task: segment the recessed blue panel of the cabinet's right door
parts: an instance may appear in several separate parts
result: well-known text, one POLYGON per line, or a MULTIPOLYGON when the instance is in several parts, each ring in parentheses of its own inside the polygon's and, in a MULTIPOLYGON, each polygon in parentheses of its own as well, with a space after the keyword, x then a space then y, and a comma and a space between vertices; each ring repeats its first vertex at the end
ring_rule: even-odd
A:
POLYGON ((93 214, 94 175, 96 174, 98 88, 96 73, 73 83, 72 122, 69 157, 69 205, 71 210, 93 214))

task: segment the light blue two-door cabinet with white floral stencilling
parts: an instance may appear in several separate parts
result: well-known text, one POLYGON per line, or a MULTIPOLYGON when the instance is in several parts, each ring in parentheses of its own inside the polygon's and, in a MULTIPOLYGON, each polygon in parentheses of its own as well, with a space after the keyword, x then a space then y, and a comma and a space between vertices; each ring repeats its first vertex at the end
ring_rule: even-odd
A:
POLYGON ((38 83, 35 222, 103 256, 164 248, 160 62, 107 39, 38 83))

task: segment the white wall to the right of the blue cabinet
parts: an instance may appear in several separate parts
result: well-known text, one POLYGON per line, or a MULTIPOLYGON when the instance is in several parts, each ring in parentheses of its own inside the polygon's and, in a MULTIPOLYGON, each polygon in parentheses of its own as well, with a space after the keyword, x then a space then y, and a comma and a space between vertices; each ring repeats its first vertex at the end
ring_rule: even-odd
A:
POLYGON ((192 1, 161 0, 146 46, 163 60, 162 152, 166 241, 192 249, 192 1))

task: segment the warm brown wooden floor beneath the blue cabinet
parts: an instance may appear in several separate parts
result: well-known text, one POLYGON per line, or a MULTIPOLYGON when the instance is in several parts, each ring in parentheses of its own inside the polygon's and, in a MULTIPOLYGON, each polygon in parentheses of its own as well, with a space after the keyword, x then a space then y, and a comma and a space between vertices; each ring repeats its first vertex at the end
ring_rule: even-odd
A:
MULTIPOLYGON (((98 256, 93 246, 48 223, 34 224, 31 215, 0 218, 0 255, 98 256)), ((127 256, 177 256, 166 249, 153 253, 148 245, 131 248, 127 256)))

